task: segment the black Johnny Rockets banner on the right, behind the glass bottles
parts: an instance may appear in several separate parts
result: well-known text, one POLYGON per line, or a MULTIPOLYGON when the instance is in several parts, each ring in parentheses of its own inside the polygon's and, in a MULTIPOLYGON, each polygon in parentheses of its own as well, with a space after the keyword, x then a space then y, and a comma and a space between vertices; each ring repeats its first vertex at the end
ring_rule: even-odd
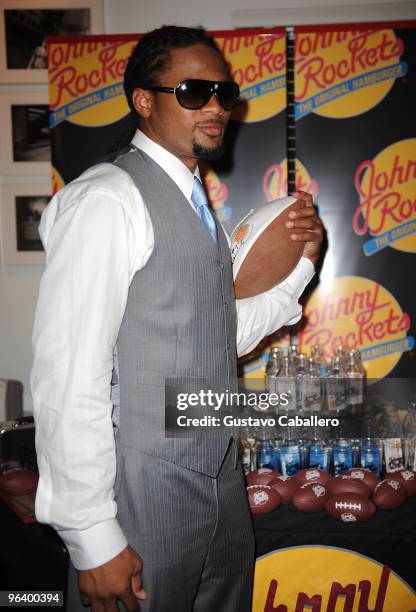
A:
POLYGON ((298 340, 327 357, 359 348, 373 379, 416 374, 415 27, 295 29, 297 187, 315 196, 328 243, 298 340))

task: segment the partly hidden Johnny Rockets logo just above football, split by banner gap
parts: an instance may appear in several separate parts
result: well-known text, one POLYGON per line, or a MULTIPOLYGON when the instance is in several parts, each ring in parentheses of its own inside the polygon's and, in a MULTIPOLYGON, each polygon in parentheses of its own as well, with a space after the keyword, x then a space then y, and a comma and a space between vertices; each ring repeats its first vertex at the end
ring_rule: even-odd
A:
MULTIPOLYGON (((312 179, 305 166, 298 159, 296 160, 296 189, 307 191, 314 198, 318 195, 318 183, 312 179)), ((287 160, 284 159, 280 164, 271 164, 263 177, 263 191, 267 200, 276 200, 287 196, 287 160)))

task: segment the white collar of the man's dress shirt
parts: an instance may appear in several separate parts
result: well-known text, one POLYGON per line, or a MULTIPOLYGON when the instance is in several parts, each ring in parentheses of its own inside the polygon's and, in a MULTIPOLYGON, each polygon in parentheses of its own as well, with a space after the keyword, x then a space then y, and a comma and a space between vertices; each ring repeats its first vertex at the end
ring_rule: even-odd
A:
POLYGON ((182 191, 185 198, 190 202, 194 188, 194 176, 201 180, 198 166, 196 167, 195 172, 192 174, 192 172, 183 162, 181 162, 180 159, 178 159, 172 153, 169 153, 169 151, 146 136, 146 134, 140 130, 136 131, 131 142, 135 147, 151 157, 153 161, 156 162, 166 172, 166 174, 170 176, 170 178, 182 191))

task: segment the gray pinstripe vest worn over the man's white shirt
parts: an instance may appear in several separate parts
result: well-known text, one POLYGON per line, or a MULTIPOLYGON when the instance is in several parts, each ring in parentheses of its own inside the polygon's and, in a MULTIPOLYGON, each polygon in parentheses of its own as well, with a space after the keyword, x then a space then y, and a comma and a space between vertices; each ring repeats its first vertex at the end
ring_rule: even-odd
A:
POLYGON ((236 378, 236 310, 229 247, 218 247, 172 179, 140 150, 115 165, 132 177, 155 246, 130 285, 118 340, 119 441, 215 476, 230 434, 165 437, 166 378, 236 378))

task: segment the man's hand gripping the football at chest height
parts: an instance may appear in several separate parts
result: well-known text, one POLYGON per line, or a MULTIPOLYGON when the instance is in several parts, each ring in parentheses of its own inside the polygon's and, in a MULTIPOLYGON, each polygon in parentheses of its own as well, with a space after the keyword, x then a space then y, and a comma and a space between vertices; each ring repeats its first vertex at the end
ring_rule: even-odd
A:
POLYGON ((286 227, 293 229, 293 233, 290 236, 292 240, 306 243, 302 255, 310 259, 313 265, 316 266, 323 239, 322 221, 313 206, 310 193, 295 191, 291 195, 299 200, 304 200, 306 206, 296 212, 291 211, 289 213, 286 227))

